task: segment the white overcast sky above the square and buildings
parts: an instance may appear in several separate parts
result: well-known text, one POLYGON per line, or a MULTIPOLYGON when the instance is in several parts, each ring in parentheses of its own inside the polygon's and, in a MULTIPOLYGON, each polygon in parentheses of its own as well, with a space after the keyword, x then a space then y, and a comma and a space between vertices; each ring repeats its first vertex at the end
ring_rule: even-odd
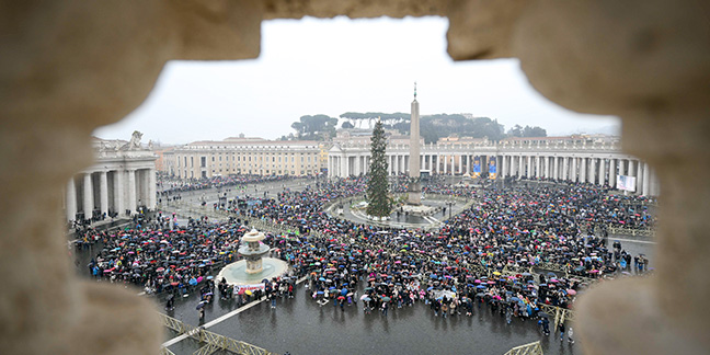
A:
POLYGON ((304 115, 471 113, 540 126, 548 135, 612 133, 619 121, 581 115, 537 93, 515 59, 454 62, 440 18, 278 20, 262 23, 257 59, 171 61, 146 102, 101 138, 184 144, 244 134, 275 139, 304 115))

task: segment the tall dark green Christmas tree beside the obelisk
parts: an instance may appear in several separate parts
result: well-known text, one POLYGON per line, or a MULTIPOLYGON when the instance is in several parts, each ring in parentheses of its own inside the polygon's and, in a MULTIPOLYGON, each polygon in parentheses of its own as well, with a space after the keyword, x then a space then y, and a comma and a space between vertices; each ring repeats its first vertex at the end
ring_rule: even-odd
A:
POLYGON ((375 217, 389 217, 392 211, 392 202, 389 198, 389 183, 387 182, 387 159, 385 149, 385 129, 379 119, 373 130, 370 146, 370 168, 367 182, 367 214, 375 217))

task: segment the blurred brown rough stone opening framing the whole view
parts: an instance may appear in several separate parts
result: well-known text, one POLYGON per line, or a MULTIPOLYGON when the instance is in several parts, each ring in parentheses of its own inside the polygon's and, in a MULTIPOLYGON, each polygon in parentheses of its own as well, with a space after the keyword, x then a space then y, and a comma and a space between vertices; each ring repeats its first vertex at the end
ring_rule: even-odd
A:
MULTIPOLYGON (((623 121, 663 195, 656 275, 580 300, 586 354, 710 348, 710 18, 701 0, 0 1, 0 348, 156 354, 151 306, 79 280, 60 191, 90 133, 135 110, 170 59, 259 55, 263 19, 446 15, 454 59, 518 57, 550 100, 623 121)), ((476 78, 471 78, 474 80, 476 78)))

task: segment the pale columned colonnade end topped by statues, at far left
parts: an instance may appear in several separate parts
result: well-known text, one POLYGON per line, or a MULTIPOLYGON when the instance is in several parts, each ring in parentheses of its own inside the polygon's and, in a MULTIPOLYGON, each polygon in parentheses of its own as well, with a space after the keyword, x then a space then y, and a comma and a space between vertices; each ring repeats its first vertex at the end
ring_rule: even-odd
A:
POLYGON ((95 163, 67 184, 67 220, 156 207, 157 156, 140 145, 140 136, 134 133, 130 141, 93 139, 95 163))

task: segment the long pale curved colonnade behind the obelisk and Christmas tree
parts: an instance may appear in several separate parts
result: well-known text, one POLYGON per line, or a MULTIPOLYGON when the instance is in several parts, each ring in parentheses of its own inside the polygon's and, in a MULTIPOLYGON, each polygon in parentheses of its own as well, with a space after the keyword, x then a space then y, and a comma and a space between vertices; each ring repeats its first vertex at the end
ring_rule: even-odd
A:
MULTIPOLYGON (((530 138, 536 139, 536 138, 530 138)), ((437 175, 471 174, 476 159, 480 172, 492 179, 503 176, 556 179, 617 187, 616 175, 635 178, 635 192, 657 196, 659 182, 649 163, 621 152, 617 142, 557 141, 545 138, 529 141, 483 144, 430 144, 421 148, 423 171, 437 175), (496 165, 496 168, 493 168, 496 165)), ((409 171, 409 146, 389 145, 390 174, 409 171)), ((369 145, 336 144, 329 154, 331 176, 366 174, 370 163, 369 145)))

